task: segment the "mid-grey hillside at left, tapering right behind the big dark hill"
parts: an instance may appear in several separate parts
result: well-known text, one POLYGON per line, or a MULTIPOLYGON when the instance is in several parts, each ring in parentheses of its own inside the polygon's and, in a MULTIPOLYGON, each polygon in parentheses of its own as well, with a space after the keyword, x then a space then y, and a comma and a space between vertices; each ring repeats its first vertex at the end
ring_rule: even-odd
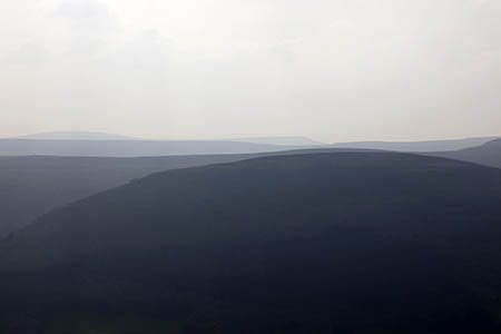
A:
POLYGON ((0 237, 32 223, 53 208, 153 173, 232 163, 266 155, 340 150, 143 158, 0 157, 0 237))

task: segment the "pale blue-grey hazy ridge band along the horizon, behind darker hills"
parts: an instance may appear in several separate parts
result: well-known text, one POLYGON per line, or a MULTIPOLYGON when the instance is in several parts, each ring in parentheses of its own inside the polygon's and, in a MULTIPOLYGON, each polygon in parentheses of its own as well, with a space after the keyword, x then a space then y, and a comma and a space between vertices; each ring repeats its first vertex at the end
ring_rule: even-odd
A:
POLYGON ((150 157, 256 154, 305 148, 358 148, 429 153, 474 147, 483 145, 491 139, 491 137, 485 137, 415 143, 363 141, 333 145, 323 145, 303 137, 242 138, 228 140, 130 140, 124 138, 114 140, 0 139, 0 156, 150 157))

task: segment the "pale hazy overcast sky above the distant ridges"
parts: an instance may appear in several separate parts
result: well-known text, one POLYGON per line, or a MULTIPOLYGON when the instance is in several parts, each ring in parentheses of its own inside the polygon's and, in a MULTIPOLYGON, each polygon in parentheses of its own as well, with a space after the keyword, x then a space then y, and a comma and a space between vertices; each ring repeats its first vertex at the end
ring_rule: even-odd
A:
POLYGON ((501 135, 500 0, 0 0, 0 137, 501 135))

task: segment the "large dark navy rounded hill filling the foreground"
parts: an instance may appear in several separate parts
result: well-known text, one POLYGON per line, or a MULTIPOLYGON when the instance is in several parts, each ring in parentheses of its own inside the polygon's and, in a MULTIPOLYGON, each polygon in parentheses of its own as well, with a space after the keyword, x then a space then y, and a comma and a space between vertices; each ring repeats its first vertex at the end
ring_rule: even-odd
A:
POLYGON ((405 154, 159 173, 3 240, 0 324, 39 333, 82 333, 80 317, 119 320, 115 328, 140 318, 150 333, 497 333, 500 203, 501 170, 405 154))

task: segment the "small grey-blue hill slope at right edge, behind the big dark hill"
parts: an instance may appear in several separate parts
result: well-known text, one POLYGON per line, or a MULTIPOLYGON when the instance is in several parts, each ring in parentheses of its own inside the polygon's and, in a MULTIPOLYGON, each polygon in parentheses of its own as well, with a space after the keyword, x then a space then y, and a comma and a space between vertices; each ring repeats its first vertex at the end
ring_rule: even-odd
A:
POLYGON ((453 151, 429 153, 428 155, 501 168, 501 139, 492 140, 477 147, 453 151))

